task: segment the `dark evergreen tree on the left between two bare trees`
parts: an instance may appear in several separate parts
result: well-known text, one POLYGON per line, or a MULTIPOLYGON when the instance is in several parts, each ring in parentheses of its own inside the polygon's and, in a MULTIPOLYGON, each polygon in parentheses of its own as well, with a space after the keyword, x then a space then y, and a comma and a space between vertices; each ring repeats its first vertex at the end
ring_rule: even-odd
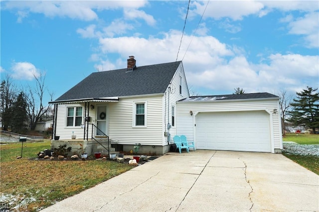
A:
POLYGON ((26 132, 26 107, 27 103, 24 99, 24 94, 20 92, 12 107, 12 132, 21 134, 26 132))

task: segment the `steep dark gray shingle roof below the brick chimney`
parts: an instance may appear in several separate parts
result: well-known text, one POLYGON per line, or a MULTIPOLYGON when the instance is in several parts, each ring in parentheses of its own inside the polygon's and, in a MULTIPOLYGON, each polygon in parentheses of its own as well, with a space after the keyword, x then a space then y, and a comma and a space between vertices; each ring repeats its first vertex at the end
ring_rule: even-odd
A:
POLYGON ((164 93, 180 63, 94 72, 55 101, 164 93))

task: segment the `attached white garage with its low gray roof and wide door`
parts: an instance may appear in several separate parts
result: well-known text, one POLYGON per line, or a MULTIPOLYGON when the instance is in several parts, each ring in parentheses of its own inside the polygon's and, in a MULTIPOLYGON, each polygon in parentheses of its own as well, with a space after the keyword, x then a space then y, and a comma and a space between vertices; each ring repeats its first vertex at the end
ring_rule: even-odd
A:
POLYGON ((176 103, 176 126, 197 149, 283 149, 279 97, 270 93, 190 96, 176 103))

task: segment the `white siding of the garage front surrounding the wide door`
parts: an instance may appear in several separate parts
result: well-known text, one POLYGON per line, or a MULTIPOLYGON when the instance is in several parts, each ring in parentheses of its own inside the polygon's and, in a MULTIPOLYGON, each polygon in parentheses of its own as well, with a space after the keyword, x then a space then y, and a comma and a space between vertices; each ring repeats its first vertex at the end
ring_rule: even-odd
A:
MULTIPOLYGON (((197 101, 177 102, 176 125, 177 134, 185 135, 187 139, 196 142, 196 116, 204 112, 235 112, 235 111, 265 111, 268 113, 270 122, 271 152, 282 149, 282 135, 280 123, 279 100, 246 100, 246 101, 197 101), (277 109, 274 114, 273 110, 277 109), (191 116, 189 111, 193 112, 191 116)), ((231 130, 231 129, 229 129, 231 130)))

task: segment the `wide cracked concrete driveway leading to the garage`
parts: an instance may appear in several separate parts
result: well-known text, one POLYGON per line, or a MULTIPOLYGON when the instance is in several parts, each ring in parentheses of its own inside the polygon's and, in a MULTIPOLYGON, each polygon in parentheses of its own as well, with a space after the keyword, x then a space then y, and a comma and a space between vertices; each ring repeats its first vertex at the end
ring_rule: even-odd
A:
POLYGON ((42 211, 319 211, 319 176, 281 154, 169 152, 42 211))

